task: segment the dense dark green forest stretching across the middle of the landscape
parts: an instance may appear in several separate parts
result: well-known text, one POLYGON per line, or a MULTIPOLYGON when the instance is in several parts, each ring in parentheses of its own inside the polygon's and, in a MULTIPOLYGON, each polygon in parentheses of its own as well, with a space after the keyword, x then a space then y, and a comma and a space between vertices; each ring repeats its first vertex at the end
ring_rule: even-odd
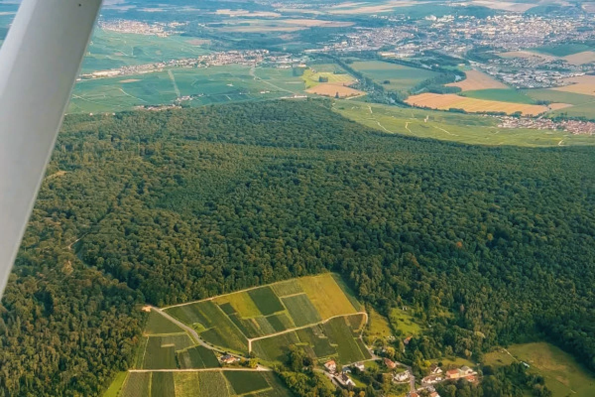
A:
POLYGON ((142 302, 325 270, 424 312, 418 358, 546 338, 595 370, 594 169, 590 148, 384 135, 322 100, 69 116, 0 306, 0 396, 98 395, 142 302))

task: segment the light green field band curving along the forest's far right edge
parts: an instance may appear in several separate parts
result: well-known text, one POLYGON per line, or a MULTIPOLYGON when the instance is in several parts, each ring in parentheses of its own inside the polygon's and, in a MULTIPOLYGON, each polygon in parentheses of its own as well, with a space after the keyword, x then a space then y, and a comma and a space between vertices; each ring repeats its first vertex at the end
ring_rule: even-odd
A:
MULTIPOLYGON (((452 112, 399 108, 388 105, 336 101, 333 109, 353 121, 385 133, 450 140, 472 145, 565 146, 595 145, 595 136, 561 131, 499 129, 496 118, 452 112), (425 122, 425 118, 428 121, 425 122)), ((573 108, 563 109, 569 111, 573 108)))

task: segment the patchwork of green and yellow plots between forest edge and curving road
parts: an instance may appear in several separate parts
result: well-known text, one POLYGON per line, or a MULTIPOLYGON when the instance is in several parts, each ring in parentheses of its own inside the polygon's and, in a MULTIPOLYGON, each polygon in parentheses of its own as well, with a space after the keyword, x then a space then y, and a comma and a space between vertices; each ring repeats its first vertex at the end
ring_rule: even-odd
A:
MULTIPOLYGON (((359 304, 347 287, 329 273, 176 305, 165 311, 194 327, 206 342, 244 354, 247 347, 267 361, 284 360, 289 345, 302 346, 312 358, 369 357, 358 342, 367 316, 359 312, 359 304), (239 340, 243 341, 241 349, 239 340)), ((193 349, 178 352, 180 365, 199 367, 200 360, 205 361, 202 356, 193 359, 193 349)))

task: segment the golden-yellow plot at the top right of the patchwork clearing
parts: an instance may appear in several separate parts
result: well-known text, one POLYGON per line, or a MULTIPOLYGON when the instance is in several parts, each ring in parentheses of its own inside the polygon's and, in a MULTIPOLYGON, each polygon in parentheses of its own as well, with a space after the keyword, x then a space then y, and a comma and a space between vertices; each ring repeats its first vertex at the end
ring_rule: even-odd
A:
POLYGON ((323 320, 357 312, 332 274, 303 277, 298 281, 323 320))

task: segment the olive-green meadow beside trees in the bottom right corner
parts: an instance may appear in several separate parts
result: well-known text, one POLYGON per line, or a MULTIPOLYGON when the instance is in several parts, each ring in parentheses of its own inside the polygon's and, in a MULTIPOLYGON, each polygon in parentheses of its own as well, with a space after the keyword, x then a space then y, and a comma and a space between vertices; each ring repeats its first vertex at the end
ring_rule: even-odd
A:
POLYGON ((595 396, 595 376, 588 373, 571 355, 550 343, 525 343, 512 345, 486 354, 486 365, 508 365, 513 361, 524 361, 530 371, 546 379, 546 386, 554 397, 591 397, 595 396))

